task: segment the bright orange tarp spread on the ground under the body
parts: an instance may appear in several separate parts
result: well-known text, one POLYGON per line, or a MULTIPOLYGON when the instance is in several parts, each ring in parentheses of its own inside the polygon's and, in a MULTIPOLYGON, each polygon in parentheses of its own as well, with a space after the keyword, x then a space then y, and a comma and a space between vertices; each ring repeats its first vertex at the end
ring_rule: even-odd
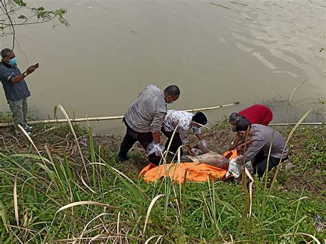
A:
MULTIPOLYGON (((237 152, 226 152, 224 156, 230 156, 230 159, 237 157, 237 152)), ((139 176, 144 178, 144 181, 151 182, 162 177, 171 177, 174 183, 186 181, 207 181, 210 180, 225 180, 228 170, 210 166, 208 164, 199 163, 175 163, 155 166, 155 164, 149 164, 140 171, 139 176)))

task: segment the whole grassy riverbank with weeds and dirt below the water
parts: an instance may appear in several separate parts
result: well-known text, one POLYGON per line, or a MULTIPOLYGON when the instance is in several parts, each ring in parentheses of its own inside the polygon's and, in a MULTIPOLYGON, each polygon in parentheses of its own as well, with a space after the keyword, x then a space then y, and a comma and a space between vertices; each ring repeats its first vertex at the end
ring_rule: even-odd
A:
POLYGON ((0 131, 0 242, 325 241, 325 125, 284 129, 290 159, 253 184, 146 184, 132 170, 146 159, 136 150, 116 163, 114 136, 71 123, 39 124, 31 140, 8 130, 0 131))

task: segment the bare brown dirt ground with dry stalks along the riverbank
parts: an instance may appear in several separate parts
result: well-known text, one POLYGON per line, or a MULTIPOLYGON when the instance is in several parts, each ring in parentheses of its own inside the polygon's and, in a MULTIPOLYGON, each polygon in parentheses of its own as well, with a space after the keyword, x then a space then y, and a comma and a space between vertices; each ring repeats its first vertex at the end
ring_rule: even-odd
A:
MULTIPOLYGON (((325 134, 325 129, 320 130, 321 133, 325 134)), ((222 126, 215 126, 215 129, 202 130, 203 136, 207 141, 208 148, 210 151, 215 151, 216 153, 224 153, 227 151, 228 146, 234 140, 235 133, 230 130, 230 126, 223 124, 222 126)), ((285 129, 282 133, 285 138, 287 137, 289 129, 285 129)), ((311 133, 315 133, 311 131, 311 133)), ((320 133, 319 131, 316 133, 320 133)), ((78 144, 83 151, 83 155, 85 158, 89 158, 89 135, 86 129, 81 128, 80 126, 76 126, 76 134, 78 137, 78 144)), ((130 151, 130 159, 122 162, 115 163, 115 156, 118 153, 118 148, 120 146, 120 142, 122 140, 122 136, 113 135, 111 133, 93 133, 94 135, 94 145, 95 148, 101 146, 103 149, 102 157, 105 157, 105 160, 113 166, 117 167, 122 172, 127 173, 128 175, 138 175, 140 170, 144 168, 147 164, 149 164, 146 156, 144 155, 145 151, 140 146, 139 143, 136 143, 130 151)), ((163 140, 162 143, 165 142, 164 135, 162 135, 163 140)), ((281 177, 281 188, 283 189, 291 189, 293 187, 296 188, 307 188, 312 192, 316 192, 316 194, 320 194, 320 187, 315 184, 316 182, 316 174, 323 175, 322 172, 318 173, 316 170, 306 170, 305 177, 303 177, 300 167, 302 167, 301 163, 292 162, 292 155, 303 155, 305 144, 301 143, 305 140, 309 140, 310 135, 305 135, 303 133, 296 133, 294 135, 294 139, 290 142, 290 159, 281 167, 280 177, 281 177), (291 145, 292 144, 292 145, 291 145)), ((53 155, 67 155, 72 162, 74 162, 79 168, 81 166, 80 163, 80 154, 78 153, 78 146, 74 140, 74 136, 67 125, 63 124, 52 124, 47 126, 37 126, 34 129, 34 133, 31 137, 36 148, 40 151, 41 154, 45 154, 45 145, 47 146, 50 153, 53 155)), ((196 144, 197 139, 193 133, 190 135, 190 142, 192 145, 196 144)), ((324 146, 325 147, 325 146, 324 146)), ((36 150, 30 143, 30 141, 26 137, 15 137, 13 130, 8 128, 0 129, 0 148, 6 148, 6 151, 11 151, 12 153, 36 153, 36 150)), ((98 150, 98 149, 96 149, 98 150)), ((188 152, 184 149, 184 153, 188 152)), ((323 149, 322 149, 323 153, 323 149)), ((301 158, 305 160, 305 158, 309 159, 309 155, 303 155, 301 158)), ((321 167, 323 171, 323 167, 321 167)), ((273 171, 270 176, 272 177, 273 171)), ((323 185, 324 180, 320 180, 320 184, 323 185)), ((325 182, 326 184, 326 182, 325 182)), ((325 195, 325 192, 322 193, 325 195)))

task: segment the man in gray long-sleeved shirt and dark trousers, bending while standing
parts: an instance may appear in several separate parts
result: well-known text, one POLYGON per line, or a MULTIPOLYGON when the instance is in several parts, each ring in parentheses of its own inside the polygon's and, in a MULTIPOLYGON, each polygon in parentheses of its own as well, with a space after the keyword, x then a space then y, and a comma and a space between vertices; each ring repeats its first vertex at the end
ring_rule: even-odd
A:
POLYGON ((164 91, 155 85, 149 85, 140 93, 124 115, 123 122, 127 131, 116 157, 118 162, 128 159, 128 151, 135 142, 140 142, 147 153, 149 148, 157 148, 155 153, 149 154, 149 161, 153 164, 160 163, 160 153, 157 151, 160 148, 162 123, 167 113, 166 104, 171 104, 179 96, 180 89, 175 85, 166 87, 164 91))

